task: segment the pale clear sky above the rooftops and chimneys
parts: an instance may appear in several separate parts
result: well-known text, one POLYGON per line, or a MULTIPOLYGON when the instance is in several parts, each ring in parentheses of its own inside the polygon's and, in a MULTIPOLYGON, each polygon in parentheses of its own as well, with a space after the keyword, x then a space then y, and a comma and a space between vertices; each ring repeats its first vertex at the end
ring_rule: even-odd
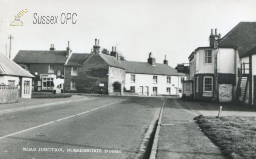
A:
POLYGON ((65 50, 67 41, 72 52, 90 53, 97 38, 102 49, 116 46, 128 61, 147 62, 152 52, 157 63, 166 55, 175 67, 209 46, 211 29, 224 36, 241 21, 256 21, 255 6, 256 0, 0 0, 0 52, 6 54, 7 44, 9 55, 10 35, 12 59, 19 50, 51 44, 65 50), (23 26, 10 26, 24 9, 23 26), (61 24, 67 13, 76 13, 75 24, 61 24), (58 16, 58 24, 34 24, 34 16, 58 16))

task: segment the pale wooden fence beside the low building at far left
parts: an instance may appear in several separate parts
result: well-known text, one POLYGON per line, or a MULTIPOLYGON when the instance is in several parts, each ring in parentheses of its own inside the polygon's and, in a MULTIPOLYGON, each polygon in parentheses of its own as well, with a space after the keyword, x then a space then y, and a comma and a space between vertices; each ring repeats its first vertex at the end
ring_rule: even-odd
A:
POLYGON ((0 86, 0 104, 14 103, 18 101, 17 86, 0 86))

